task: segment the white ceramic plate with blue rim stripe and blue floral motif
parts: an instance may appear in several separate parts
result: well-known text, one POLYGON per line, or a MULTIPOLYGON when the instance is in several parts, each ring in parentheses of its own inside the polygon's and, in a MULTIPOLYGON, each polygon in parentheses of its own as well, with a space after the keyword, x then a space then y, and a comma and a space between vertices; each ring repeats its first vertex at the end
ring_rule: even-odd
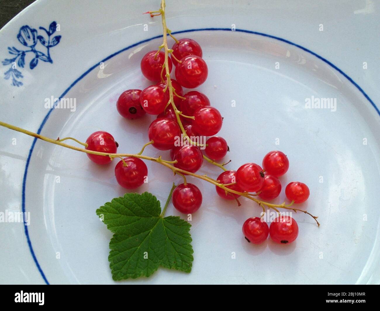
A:
MULTIPOLYGON (((32 29, 47 39, 39 27, 53 21, 60 31, 50 43, 61 38, 49 55, 40 42, 40 52, 26 52, 25 66, 16 67, 22 77, 13 71, 3 79, 11 64, 0 65, 1 120, 82 141, 105 130, 119 152, 138 152, 152 117, 128 122, 115 102, 123 90, 150 84, 139 62, 160 44, 161 24, 141 13, 159 2, 38 0, 22 11, 0 30, 2 60, 30 49, 32 29), (21 29, 25 25, 30 29, 21 29), (76 111, 46 109, 51 96, 75 98, 76 111)), ((307 183, 311 195, 299 208, 318 215, 321 226, 293 214, 296 242, 249 244, 241 226, 260 208, 244 199, 237 207, 220 199, 214 186, 189 177, 204 198, 192 219, 192 272, 160 268, 148 279, 117 283, 379 283, 379 9, 372 1, 167 1, 168 27, 203 48, 209 77, 198 90, 224 117, 220 136, 231 149, 228 167, 261 164, 268 151, 282 150, 290 169, 274 202, 283 201, 288 182, 307 183), (312 96, 336 99, 336 111, 307 109, 312 96)), ((1 283, 115 283, 108 262, 112 234, 95 210, 125 193, 114 179, 116 162, 98 167, 81 153, 5 128, 0 142, 0 211, 30 212, 28 226, 0 223, 1 283)), ((146 154, 168 157, 152 147, 146 154)), ((163 203, 172 173, 147 166, 149 183, 138 191, 163 203)), ((207 163, 200 172, 216 177, 219 169, 207 163)), ((172 205, 169 214, 179 215, 172 205)))

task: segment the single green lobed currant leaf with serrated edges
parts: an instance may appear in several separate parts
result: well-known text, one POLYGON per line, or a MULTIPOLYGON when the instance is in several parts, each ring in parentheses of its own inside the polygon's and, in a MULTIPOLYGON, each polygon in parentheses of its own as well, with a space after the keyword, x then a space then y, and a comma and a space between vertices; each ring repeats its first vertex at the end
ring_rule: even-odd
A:
POLYGON ((160 265, 191 271, 191 225, 178 216, 162 217, 160 202, 154 195, 126 193, 96 213, 114 232, 108 260, 115 281, 150 276, 160 265))

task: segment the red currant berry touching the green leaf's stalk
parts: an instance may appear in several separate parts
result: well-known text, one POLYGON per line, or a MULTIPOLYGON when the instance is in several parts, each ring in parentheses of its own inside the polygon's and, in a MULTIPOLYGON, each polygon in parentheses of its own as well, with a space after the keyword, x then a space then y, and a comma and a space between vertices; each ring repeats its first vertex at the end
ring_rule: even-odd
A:
POLYGON ((174 189, 171 200, 179 212, 192 214, 201 207, 202 193, 192 183, 187 183, 186 185, 181 183, 174 189))

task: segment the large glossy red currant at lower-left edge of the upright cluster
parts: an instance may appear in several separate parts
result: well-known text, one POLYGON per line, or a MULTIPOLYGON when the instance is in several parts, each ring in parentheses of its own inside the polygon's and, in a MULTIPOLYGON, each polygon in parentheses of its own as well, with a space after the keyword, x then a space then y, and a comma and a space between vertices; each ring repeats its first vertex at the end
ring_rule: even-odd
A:
POLYGON ((171 119, 156 119, 149 125, 149 140, 153 140, 152 144, 158 150, 169 150, 174 147, 176 137, 180 136, 178 124, 171 119))

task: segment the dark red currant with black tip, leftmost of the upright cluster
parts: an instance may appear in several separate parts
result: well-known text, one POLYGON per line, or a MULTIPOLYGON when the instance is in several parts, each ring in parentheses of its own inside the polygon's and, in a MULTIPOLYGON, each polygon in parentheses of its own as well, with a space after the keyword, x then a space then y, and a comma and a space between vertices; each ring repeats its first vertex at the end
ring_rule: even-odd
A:
POLYGON ((133 120, 145 115, 145 110, 140 104, 141 90, 127 90, 119 96, 116 102, 116 108, 124 118, 133 120))

